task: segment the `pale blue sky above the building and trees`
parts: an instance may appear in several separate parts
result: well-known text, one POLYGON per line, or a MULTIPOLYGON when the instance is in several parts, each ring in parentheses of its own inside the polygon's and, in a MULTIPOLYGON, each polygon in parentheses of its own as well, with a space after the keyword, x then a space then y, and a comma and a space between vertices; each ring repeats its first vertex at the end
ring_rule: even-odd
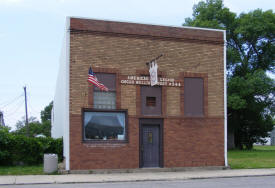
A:
MULTIPOLYGON (((15 129, 54 98, 67 16, 180 27, 199 0, 0 0, 0 111, 15 129)), ((240 14, 275 10, 274 0, 224 0, 240 14)))

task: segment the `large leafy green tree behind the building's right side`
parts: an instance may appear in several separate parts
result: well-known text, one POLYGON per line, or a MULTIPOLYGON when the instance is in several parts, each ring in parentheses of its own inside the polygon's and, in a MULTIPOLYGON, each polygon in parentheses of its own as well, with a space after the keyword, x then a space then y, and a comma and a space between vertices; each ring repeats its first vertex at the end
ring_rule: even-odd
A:
POLYGON ((228 131, 235 145, 251 149, 274 125, 275 14, 260 9, 237 16, 222 0, 201 1, 183 25, 226 30, 228 131))

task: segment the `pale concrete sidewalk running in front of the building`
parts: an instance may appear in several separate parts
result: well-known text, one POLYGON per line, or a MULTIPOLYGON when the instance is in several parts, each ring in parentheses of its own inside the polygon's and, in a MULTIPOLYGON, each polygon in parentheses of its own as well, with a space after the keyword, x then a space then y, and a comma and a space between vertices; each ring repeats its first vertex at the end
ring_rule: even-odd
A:
POLYGON ((52 184, 52 183, 103 183, 131 181, 171 181, 199 178, 275 176, 275 168, 245 170, 199 170, 184 172, 142 172, 113 174, 67 174, 0 176, 0 185, 52 184))

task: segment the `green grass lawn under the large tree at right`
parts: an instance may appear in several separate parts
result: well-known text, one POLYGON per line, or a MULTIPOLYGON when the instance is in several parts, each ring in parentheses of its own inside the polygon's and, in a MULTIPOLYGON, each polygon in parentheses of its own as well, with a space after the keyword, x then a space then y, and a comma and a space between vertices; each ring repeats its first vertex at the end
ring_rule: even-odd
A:
POLYGON ((232 169, 275 168, 275 146, 254 146, 253 150, 229 150, 228 163, 232 169))

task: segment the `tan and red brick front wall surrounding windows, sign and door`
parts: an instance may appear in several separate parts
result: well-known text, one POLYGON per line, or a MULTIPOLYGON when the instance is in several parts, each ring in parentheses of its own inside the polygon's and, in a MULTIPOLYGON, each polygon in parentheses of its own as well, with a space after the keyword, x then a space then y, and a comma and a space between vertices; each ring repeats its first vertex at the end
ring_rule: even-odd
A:
POLYGON ((166 77, 197 76, 205 83, 205 115, 200 118, 184 117, 183 87, 162 88, 162 115, 158 118, 164 120, 164 167, 223 166, 223 33, 158 26, 148 26, 152 31, 148 33, 146 25, 130 24, 133 30, 129 30, 125 23, 114 22, 110 28, 104 24, 71 19, 70 169, 139 167, 140 86, 121 85, 119 78, 148 70, 145 62, 159 54, 163 54, 159 71, 166 77), (83 142, 82 108, 93 104, 92 86, 87 82, 90 66, 94 72, 117 74, 117 108, 128 110, 127 143, 83 142))

